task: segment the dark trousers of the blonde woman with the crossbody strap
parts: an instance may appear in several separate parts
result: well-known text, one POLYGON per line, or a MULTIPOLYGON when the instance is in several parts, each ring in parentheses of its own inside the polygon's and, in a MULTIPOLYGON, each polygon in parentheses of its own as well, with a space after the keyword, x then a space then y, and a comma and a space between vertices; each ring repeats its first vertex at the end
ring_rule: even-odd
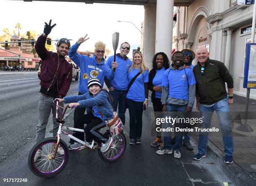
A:
POLYGON ((142 133, 143 102, 126 99, 130 116, 130 139, 140 139, 142 133))

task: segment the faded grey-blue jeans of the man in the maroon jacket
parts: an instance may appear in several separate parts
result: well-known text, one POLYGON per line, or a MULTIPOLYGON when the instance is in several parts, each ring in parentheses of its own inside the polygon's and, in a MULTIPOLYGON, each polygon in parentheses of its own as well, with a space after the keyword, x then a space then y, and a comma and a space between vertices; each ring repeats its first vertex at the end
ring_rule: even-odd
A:
MULTIPOLYGON (((61 107, 64 107, 64 102, 61 102, 59 105, 61 107)), ((44 139, 46 126, 51 111, 53 122, 52 134, 55 137, 59 129, 59 123, 56 122, 56 104, 53 104, 52 97, 41 95, 38 103, 38 124, 36 126, 36 143, 44 139)))

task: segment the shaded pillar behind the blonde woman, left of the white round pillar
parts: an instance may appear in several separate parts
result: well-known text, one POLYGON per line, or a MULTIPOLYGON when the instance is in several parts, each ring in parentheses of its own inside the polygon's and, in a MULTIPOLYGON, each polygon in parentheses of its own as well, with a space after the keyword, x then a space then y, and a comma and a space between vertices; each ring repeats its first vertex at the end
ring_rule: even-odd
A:
POLYGON ((152 69, 156 40, 156 4, 147 3, 144 9, 143 57, 146 66, 152 69))

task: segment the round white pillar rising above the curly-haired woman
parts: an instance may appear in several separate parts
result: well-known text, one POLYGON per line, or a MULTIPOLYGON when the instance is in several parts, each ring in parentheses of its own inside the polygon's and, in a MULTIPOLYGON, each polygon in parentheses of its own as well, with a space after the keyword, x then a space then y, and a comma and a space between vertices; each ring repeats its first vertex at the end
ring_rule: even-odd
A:
POLYGON ((164 52, 171 60, 174 0, 157 0, 156 51, 164 52))

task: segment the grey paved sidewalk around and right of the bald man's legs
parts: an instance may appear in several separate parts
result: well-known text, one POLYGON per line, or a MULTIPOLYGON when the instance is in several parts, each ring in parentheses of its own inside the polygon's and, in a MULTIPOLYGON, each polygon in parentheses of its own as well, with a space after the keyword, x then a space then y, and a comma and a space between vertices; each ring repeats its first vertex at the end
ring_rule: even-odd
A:
MULTIPOLYGON (((230 105, 230 112, 234 113, 241 113, 245 112, 245 102, 246 97, 241 97, 238 95, 234 95, 234 102, 230 105)), ((250 112, 252 115, 254 113, 254 117, 256 118, 256 100, 250 99, 249 101, 249 109, 248 112, 250 112)), ((216 114, 215 114, 216 115, 216 114)), ((215 118, 217 119, 217 117, 215 118)), ((218 122, 214 119, 214 116, 212 117, 212 123, 218 122)), ((244 124, 245 120, 242 119, 241 122, 238 120, 234 120, 234 127, 233 127, 233 138, 234 138, 234 164, 231 166, 224 165, 226 167, 221 168, 230 168, 230 170, 227 171, 238 171, 239 168, 243 172, 233 172, 234 179, 237 179, 237 181, 241 181, 241 179, 251 179, 251 181, 256 181, 256 119, 249 118, 247 121, 247 124, 251 126, 251 128, 254 130, 253 132, 243 132, 236 129, 236 127, 240 126, 241 122, 244 124), (238 166, 238 167, 236 167, 238 166), (241 178, 241 177, 243 178, 241 178), (247 177, 248 176, 248 177, 247 177), (247 177, 247 178, 246 178, 247 177)), ((197 140, 197 139, 196 139, 197 140)), ((224 147, 223 147, 223 141, 221 136, 209 136, 208 139, 208 150, 215 153, 215 156, 224 156, 224 147), (210 145, 209 145, 210 144, 210 145), (215 148, 217 147, 217 148, 215 148), (223 154, 219 153, 222 152, 223 154)), ((220 162, 221 164, 221 162, 220 162)), ((224 162, 223 162, 224 164, 224 162)), ((241 182, 242 184, 243 182, 241 182)), ((256 182, 255 184, 256 185, 256 182)))

